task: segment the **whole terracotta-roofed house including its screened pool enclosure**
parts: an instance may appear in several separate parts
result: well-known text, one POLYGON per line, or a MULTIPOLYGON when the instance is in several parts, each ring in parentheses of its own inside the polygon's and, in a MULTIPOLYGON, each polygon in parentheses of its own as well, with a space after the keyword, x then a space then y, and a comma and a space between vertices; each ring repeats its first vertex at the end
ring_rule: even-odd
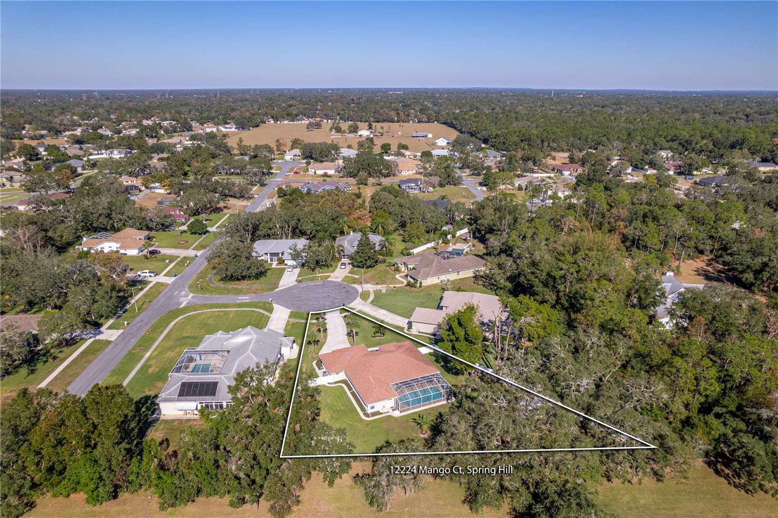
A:
POLYGON ((336 349, 319 355, 325 376, 345 378, 365 411, 400 415, 453 399, 440 370, 410 341, 336 349))

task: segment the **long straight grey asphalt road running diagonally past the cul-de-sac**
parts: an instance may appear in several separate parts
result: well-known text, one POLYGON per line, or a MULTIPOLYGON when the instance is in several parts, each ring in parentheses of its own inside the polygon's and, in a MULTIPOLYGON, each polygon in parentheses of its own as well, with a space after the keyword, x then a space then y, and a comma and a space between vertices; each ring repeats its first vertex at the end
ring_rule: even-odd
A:
MULTIPOLYGON (((303 163, 281 162, 277 164, 281 166, 281 170, 279 173, 276 173, 272 179, 268 180, 268 185, 251 201, 247 210, 254 212, 260 210, 273 189, 282 182, 282 179, 289 171, 289 168, 303 163)), ((132 346, 135 345, 138 338, 141 338, 145 331, 149 329, 154 320, 170 310, 175 310, 180 306, 184 306, 187 304, 187 300, 189 300, 190 297, 194 298, 187 289, 187 286, 189 285, 189 282, 198 275, 202 268, 205 268, 205 264, 208 263, 209 251, 210 247, 203 250, 202 254, 198 254, 195 261, 192 261, 187 268, 184 268, 181 275, 178 275, 173 282, 171 282, 170 285, 149 304, 149 306, 146 306, 145 310, 143 310, 135 320, 132 320, 118 338, 112 341, 110 345, 83 370, 79 377, 73 380, 73 383, 68 387, 68 391, 71 394, 77 394, 79 396, 86 394, 93 385, 100 383, 100 381, 117 366, 121 359, 124 358, 124 355, 126 355, 132 346)), ((240 296, 224 296, 219 302, 245 302, 245 299, 240 299, 240 296)))

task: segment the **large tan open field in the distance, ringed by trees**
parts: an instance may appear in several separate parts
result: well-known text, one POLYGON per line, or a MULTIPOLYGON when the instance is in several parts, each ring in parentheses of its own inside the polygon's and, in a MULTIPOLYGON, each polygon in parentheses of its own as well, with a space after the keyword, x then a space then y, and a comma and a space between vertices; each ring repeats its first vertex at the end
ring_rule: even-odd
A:
MULTIPOLYGON (((341 124, 342 128, 348 124, 341 124)), ((433 145, 433 141, 438 137, 448 137, 454 140, 459 135, 456 130, 438 124, 429 123, 397 123, 397 122, 377 122, 373 124, 374 129, 384 127, 384 137, 374 137, 376 141, 376 151, 384 142, 391 144, 391 149, 397 149, 398 142, 408 144, 408 149, 413 152, 422 152, 432 149, 440 149, 433 145), (413 138, 412 133, 421 133, 426 131, 432 133, 432 138, 413 138)), ((313 131, 307 131, 305 124, 262 124, 259 128, 253 128, 249 131, 240 131, 227 138, 227 143, 233 148, 237 147, 239 138, 243 138, 244 144, 270 144, 275 147, 275 139, 285 140, 287 145, 292 143, 293 138, 302 138, 305 142, 335 142, 340 147, 345 148, 352 145, 356 149, 356 143, 363 140, 364 137, 345 136, 330 133, 330 124, 323 124, 322 128, 313 131)), ((367 123, 360 122, 359 129, 366 129, 367 123)))

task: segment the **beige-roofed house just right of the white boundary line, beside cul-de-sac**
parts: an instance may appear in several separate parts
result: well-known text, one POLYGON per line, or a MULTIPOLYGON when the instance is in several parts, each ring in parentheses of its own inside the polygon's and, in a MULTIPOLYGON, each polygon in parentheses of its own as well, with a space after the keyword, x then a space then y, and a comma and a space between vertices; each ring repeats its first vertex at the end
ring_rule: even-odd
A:
POLYGON ((501 317, 504 309, 499 297, 476 292, 443 292, 436 310, 417 307, 411 315, 412 331, 434 334, 443 317, 461 310, 468 304, 478 306, 478 317, 482 325, 493 324, 501 317))

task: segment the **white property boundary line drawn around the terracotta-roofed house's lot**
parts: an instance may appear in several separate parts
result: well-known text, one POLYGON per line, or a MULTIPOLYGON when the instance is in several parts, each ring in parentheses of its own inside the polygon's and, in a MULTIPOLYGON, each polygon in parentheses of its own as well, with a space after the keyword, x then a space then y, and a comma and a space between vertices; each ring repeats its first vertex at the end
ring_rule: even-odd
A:
MULTIPOLYGON (((292 405, 294 404, 294 397, 297 391, 297 381, 300 380, 300 367, 303 366, 303 349, 305 348, 306 341, 308 338, 308 327, 310 327, 310 315, 313 313, 328 313, 329 311, 339 311, 339 310, 350 311, 351 313, 354 313, 358 317, 366 318, 367 320, 370 320, 375 324, 383 325, 384 327, 386 327, 387 325, 384 322, 380 322, 379 320, 375 320, 372 317, 363 315, 362 313, 359 313, 356 310, 352 310, 351 308, 346 306, 332 308, 331 310, 308 312, 308 321, 305 325, 303 344, 300 346, 300 361, 297 362, 297 373, 294 380, 294 387, 292 389, 292 400, 289 402, 289 415, 286 416, 286 428, 284 429, 284 437, 281 442, 281 454, 279 455, 279 457, 281 457, 282 459, 310 459, 310 458, 320 458, 320 457, 398 457, 402 455, 447 455, 447 454, 454 454, 454 453, 532 453, 532 452, 553 452, 553 451, 654 450, 657 448, 657 446, 654 446, 651 443, 647 443, 643 439, 638 439, 636 436, 632 436, 627 432, 623 432, 622 430, 615 428, 614 426, 601 422, 598 419, 595 419, 589 415, 584 414, 584 412, 577 411, 574 408, 569 408, 565 404, 559 403, 559 401, 555 401, 550 397, 546 397, 543 394, 538 394, 534 390, 528 389, 527 387, 523 387, 519 383, 516 383, 513 380, 509 380, 503 376, 499 376, 499 374, 491 373, 489 372, 489 370, 485 369, 484 367, 477 366, 471 362, 466 362, 463 359, 460 359, 457 356, 445 352, 439 348, 434 348, 435 352, 438 352, 442 355, 446 355, 449 358, 453 358, 459 362, 464 363, 465 365, 480 370, 482 373, 489 374, 489 376, 494 376, 498 380, 504 381, 505 383, 508 383, 513 387, 517 387, 521 390, 524 390, 525 392, 528 392, 529 394, 532 394, 535 397, 539 397, 544 401, 548 401, 548 403, 555 404, 559 407, 569 410, 573 412, 573 414, 580 415, 582 418, 586 418, 591 422, 596 422, 598 425, 605 426, 605 428, 611 429, 614 432, 618 432, 622 436, 627 436, 630 439, 636 440, 638 443, 642 444, 643 446, 602 446, 602 447, 591 447, 591 448, 541 448, 541 449, 531 449, 531 450, 475 450, 475 451, 464 450, 464 451, 423 451, 423 452, 401 452, 401 453, 331 453, 331 454, 318 453, 314 455, 284 455, 284 446, 286 446, 286 432, 289 430, 289 420, 292 418, 292 405)), ((405 338, 410 338, 413 341, 419 342, 419 344, 426 345, 427 347, 429 347, 429 344, 426 344, 425 342, 419 340, 418 338, 414 338, 403 331, 397 331, 394 329, 394 327, 391 327, 390 329, 391 331, 394 331, 398 334, 405 336, 405 338)))

